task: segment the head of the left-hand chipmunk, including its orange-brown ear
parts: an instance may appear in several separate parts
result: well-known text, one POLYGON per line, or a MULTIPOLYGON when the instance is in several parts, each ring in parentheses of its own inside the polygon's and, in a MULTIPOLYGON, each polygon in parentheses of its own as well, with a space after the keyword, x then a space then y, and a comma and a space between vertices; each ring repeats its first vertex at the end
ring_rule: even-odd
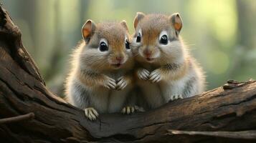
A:
POLYGON ((128 26, 125 21, 95 24, 87 20, 82 26, 85 46, 81 59, 93 69, 120 69, 131 61, 128 26))

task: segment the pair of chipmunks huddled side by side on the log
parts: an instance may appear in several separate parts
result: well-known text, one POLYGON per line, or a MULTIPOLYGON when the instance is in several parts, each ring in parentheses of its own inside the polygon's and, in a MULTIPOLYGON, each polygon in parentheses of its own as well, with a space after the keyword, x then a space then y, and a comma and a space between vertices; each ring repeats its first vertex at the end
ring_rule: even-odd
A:
POLYGON ((179 14, 143 14, 134 19, 131 37, 125 21, 82 26, 83 41, 72 54, 66 99, 85 110, 132 114, 155 109, 204 91, 204 73, 179 36, 179 14))

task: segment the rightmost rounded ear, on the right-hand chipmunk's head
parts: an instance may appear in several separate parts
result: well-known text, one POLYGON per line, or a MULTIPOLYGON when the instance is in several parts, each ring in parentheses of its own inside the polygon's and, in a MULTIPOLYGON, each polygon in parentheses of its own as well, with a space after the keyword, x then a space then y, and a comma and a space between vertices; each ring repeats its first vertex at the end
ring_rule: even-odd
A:
POLYGON ((171 25, 174 26, 176 34, 178 35, 182 28, 182 20, 180 14, 171 14, 171 16, 169 16, 169 19, 171 21, 171 25))

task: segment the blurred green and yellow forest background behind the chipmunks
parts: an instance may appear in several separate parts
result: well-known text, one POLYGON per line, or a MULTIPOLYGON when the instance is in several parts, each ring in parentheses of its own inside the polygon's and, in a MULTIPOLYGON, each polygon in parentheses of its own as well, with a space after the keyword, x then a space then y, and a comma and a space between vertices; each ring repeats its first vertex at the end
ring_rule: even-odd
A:
POLYGON ((52 92, 62 95, 69 54, 87 19, 125 19, 133 34, 137 11, 172 14, 184 22, 181 36, 202 64, 207 89, 227 79, 256 79, 255 0, 1 0, 22 30, 24 46, 52 92))

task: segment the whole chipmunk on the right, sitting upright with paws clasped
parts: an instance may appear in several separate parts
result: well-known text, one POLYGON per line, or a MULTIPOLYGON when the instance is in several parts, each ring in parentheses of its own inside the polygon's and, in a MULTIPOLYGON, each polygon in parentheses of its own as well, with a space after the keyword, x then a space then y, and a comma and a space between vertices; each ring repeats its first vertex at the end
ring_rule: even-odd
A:
POLYGON ((137 83, 149 109, 204 91, 204 72, 179 36, 180 14, 138 12, 133 24, 137 83))

